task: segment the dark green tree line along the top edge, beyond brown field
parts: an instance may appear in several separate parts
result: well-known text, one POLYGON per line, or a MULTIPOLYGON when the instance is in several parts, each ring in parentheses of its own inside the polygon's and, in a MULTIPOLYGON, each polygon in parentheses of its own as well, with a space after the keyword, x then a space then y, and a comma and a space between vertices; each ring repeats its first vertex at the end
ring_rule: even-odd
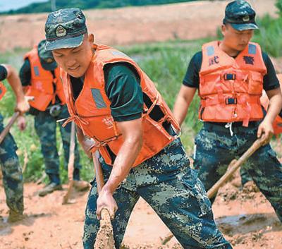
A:
MULTIPOLYGON (((56 8, 118 8, 125 6, 145 6, 145 5, 157 5, 157 4, 172 4, 185 1, 195 0, 59 0, 56 1, 56 8)), ((43 3, 33 3, 23 8, 19 8, 16 11, 6 11, 3 13, 16 14, 16 13, 40 13, 51 12, 50 1, 43 3)))

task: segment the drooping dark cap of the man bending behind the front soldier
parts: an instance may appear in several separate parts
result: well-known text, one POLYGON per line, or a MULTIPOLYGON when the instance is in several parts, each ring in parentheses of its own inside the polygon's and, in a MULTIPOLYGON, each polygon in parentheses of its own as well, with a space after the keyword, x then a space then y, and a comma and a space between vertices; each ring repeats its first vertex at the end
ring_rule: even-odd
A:
POLYGON ((52 71, 57 67, 57 63, 54 60, 54 56, 51 51, 45 49, 46 40, 39 42, 37 46, 38 56, 40 63, 45 70, 52 71))

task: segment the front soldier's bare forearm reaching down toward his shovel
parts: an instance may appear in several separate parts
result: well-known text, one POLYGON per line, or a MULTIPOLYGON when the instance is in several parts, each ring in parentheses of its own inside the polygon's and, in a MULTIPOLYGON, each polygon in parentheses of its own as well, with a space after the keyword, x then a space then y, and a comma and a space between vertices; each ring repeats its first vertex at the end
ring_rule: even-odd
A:
POLYGON ((113 169, 106 182, 103 191, 114 193, 116 188, 120 186, 121 182, 128 176, 130 169, 137 158, 142 147, 142 138, 128 139, 123 142, 121 149, 116 156, 113 169))

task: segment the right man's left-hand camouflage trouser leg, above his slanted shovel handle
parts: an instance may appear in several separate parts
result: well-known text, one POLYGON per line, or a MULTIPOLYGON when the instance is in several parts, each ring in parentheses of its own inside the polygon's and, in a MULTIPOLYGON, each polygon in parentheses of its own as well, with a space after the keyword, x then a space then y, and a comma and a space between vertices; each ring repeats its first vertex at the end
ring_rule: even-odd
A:
MULTIPOLYGON (((195 138, 194 168, 206 191, 226 172, 228 164, 235 159, 236 141, 229 133, 200 130, 195 138)), ((211 198, 213 203, 216 198, 211 198)))

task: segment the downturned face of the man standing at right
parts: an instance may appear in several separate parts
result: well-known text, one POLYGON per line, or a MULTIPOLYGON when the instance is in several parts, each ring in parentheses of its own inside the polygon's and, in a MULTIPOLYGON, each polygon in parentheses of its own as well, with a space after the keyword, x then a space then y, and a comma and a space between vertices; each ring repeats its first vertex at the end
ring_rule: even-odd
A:
POLYGON ((254 30, 235 30, 230 24, 222 25, 223 43, 235 51, 243 51, 254 35, 254 30))

